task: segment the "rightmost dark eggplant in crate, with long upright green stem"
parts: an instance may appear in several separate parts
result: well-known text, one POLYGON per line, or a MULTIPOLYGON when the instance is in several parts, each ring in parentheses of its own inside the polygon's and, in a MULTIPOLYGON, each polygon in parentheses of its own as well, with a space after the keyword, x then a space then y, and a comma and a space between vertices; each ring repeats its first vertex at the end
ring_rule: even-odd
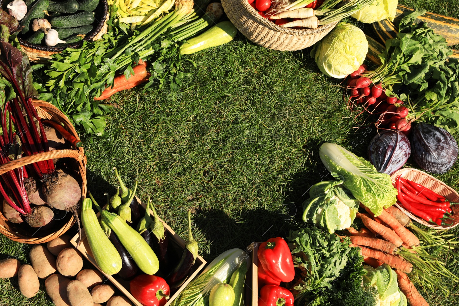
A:
POLYGON ((190 274, 198 255, 198 243, 193 239, 191 233, 191 211, 188 210, 188 239, 185 242, 182 258, 174 270, 165 278, 171 289, 176 289, 183 284, 190 274))

